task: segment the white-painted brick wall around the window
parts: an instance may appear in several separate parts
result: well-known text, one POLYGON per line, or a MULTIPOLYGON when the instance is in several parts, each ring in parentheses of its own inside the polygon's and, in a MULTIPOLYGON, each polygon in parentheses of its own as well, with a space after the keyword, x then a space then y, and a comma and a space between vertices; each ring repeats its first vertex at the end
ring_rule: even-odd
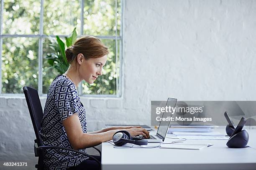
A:
MULTIPOLYGON (((256 100, 255 9, 255 0, 126 0, 123 96, 82 98, 88 130, 150 124, 151 100, 167 97, 256 100)), ((0 97, 0 161, 34 163, 34 138, 26 100, 0 97)))

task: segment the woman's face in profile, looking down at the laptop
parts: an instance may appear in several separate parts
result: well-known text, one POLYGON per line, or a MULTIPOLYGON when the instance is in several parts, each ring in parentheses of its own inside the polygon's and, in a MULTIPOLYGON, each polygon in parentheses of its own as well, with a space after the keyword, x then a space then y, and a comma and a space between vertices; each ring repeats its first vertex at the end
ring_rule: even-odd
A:
POLYGON ((107 55, 100 58, 89 58, 88 60, 82 57, 82 63, 79 67, 80 78, 92 84, 99 75, 102 75, 102 67, 106 62, 107 55))

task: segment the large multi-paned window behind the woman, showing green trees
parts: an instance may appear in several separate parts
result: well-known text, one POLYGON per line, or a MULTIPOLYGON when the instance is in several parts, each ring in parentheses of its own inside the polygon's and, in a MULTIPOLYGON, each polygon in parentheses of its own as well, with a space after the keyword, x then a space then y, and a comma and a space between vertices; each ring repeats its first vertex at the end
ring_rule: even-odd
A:
POLYGON ((80 95, 120 95, 123 47, 123 0, 1 0, 1 95, 21 94, 23 86, 48 92, 59 73, 45 59, 53 52, 49 36, 63 38, 76 27, 79 35, 99 37, 109 47, 107 64, 94 84, 81 82, 80 95))

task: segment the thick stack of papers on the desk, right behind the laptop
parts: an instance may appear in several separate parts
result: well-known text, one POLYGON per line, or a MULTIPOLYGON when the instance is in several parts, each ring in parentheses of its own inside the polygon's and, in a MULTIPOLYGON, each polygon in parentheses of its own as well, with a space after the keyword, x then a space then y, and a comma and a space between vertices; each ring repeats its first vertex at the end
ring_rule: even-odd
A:
POLYGON ((168 133, 173 132, 212 132, 218 126, 210 125, 171 125, 168 133))

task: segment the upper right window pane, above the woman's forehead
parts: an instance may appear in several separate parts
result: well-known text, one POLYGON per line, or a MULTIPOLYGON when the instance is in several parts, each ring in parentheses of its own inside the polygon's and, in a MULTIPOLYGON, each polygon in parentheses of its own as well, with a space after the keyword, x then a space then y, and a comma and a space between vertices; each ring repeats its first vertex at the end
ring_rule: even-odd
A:
MULTIPOLYGON (((118 11, 120 25, 120 0, 118 11)), ((115 29, 115 0, 84 0, 85 35, 115 35, 115 29)))

